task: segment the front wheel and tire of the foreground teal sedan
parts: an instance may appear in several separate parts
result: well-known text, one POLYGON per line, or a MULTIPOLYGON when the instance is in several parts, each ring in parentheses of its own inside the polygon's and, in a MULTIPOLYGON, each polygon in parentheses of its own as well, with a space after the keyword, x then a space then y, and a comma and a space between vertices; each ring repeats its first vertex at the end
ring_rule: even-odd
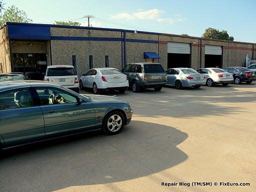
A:
POLYGON ((106 114, 102 123, 102 129, 105 134, 118 134, 123 128, 125 122, 120 111, 114 110, 106 114))

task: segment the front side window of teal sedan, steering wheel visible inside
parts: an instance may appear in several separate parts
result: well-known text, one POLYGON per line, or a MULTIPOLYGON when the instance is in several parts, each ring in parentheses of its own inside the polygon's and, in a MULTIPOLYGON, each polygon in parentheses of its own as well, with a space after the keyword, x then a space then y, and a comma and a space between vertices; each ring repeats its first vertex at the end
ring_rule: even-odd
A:
POLYGON ((35 87, 42 105, 77 103, 77 97, 55 87, 35 87))

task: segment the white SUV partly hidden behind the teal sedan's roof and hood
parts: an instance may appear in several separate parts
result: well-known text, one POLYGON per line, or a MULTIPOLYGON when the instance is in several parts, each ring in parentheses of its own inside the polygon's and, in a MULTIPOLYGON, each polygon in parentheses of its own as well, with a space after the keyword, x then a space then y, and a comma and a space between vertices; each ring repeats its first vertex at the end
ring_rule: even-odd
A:
POLYGON ((79 92, 78 76, 75 74, 72 65, 48 65, 43 80, 54 82, 79 92))

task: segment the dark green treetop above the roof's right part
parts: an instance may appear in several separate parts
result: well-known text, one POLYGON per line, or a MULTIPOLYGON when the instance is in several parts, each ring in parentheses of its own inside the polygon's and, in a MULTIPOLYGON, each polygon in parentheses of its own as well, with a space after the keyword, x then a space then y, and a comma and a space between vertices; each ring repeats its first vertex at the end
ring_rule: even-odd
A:
POLYGON ((229 36, 226 30, 219 31, 218 29, 211 27, 205 29, 202 37, 222 40, 234 40, 234 37, 229 36))

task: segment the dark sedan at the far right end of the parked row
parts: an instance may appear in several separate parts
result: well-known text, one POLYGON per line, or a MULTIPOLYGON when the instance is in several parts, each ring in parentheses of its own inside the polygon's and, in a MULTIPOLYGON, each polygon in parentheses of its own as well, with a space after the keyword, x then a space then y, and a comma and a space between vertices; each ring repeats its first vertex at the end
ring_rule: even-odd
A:
POLYGON ((223 68, 226 72, 233 73, 235 84, 246 82, 247 84, 256 80, 256 72, 242 66, 230 66, 223 68))

